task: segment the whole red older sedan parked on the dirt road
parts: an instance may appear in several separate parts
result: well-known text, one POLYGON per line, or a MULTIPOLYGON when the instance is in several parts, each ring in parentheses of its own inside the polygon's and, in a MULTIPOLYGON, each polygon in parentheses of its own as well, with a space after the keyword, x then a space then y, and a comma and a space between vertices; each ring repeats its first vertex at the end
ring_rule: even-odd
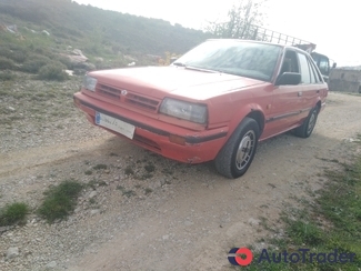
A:
POLYGON ((214 160, 238 178, 259 141, 290 130, 308 138, 327 96, 301 49, 208 40, 169 67, 89 72, 73 98, 96 126, 184 163, 214 160))

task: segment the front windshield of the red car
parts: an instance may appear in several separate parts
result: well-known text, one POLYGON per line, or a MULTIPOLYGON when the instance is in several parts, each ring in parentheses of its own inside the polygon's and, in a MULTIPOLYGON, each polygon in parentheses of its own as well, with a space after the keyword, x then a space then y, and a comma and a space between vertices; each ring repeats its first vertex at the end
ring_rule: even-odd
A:
POLYGON ((237 40, 210 40, 173 64, 271 81, 281 47, 237 40))

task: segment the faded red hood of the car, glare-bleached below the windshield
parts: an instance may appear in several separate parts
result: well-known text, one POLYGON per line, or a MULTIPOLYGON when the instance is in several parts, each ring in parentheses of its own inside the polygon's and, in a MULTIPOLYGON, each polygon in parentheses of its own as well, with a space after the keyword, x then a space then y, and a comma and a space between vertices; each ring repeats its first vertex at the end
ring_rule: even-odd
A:
POLYGON ((184 67, 142 67, 93 71, 98 83, 163 99, 166 96, 205 100, 229 91, 264 83, 264 81, 221 72, 184 67))

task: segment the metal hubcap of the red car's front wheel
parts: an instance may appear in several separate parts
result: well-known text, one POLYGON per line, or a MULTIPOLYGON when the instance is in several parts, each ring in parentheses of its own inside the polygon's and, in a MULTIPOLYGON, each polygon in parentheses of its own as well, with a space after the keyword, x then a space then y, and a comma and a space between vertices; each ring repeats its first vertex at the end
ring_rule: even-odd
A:
POLYGON ((251 160, 255 143, 255 134, 253 131, 248 131, 242 138, 237 155, 235 155, 235 167, 238 170, 242 170, 251 160))

